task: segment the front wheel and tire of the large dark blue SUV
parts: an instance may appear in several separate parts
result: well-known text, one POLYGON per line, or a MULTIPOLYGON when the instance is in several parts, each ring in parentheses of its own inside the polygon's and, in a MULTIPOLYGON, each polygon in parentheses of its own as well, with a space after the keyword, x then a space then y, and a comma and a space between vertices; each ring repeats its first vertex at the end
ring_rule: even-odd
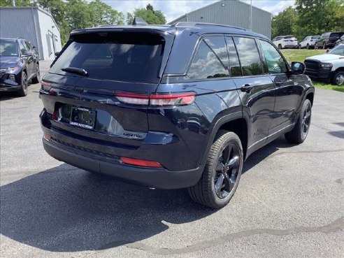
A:
POLYGON ((287 134, 285 138, 290 143, 303 143, 306 140, 310 127, 310 119, 312 117, 312 104, 309 99, 306 99, 303 102, 302 108, 300 110, 300 115, 297 119, 297 122, 292 129, 287 134))

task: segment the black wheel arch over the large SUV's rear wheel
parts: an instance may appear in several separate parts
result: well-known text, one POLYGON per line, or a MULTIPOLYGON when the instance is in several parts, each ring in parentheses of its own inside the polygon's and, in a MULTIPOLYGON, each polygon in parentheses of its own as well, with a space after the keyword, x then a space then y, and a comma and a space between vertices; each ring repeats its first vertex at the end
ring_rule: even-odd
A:
POLYGON ((204 150, 201 164, 206 164, 208 152, 211 148, 211 145, 215 141, 218 131, 220 130, 232 131, 238 135, 241 140, 241 145, 243 146, 243 157, 245 159, 248 150, 248 122, 245 120, 243 113, 240 111, 225 115, 215 122, 206 145, 206 150, 204 150))

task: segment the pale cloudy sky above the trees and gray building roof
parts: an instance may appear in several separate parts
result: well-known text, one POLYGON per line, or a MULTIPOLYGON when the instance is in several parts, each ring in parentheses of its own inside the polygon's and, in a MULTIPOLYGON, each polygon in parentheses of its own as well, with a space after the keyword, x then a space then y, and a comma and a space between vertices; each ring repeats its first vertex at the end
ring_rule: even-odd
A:
MULTIPOLYGON (((203 6, 208 6, 216 0, 102 0, 115 10, 122 13, 132 13, 135 8, 144 8, 148 3, 152 4, 155 10, 161 10, 164 13, 167 22, 171 22, 185 13, 190 13, 193 10, 199 9, 203 6)), ((218 0, 217 0, 218 1, 218 0)), ((234 0, 227 0, 234 1, 234 0)), ((250 3, 250 0, 240 0, 250 3)), ((289 6, 294 5, 295 0, 252 0, 252 6, 256 6, 263 10, 267 10, 273 15, 285 10, 289 6)))

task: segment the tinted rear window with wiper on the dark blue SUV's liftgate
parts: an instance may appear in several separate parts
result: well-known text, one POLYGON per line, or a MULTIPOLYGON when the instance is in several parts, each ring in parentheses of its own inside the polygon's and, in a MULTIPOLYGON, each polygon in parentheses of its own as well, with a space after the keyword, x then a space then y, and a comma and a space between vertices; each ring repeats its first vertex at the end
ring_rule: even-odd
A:
POLYGON ((143 33, 99 33, 74 36, 50 69, 50 73, 80 76, 62 71, 76 67, 94 79, 158 83, 165 38, 143 33))

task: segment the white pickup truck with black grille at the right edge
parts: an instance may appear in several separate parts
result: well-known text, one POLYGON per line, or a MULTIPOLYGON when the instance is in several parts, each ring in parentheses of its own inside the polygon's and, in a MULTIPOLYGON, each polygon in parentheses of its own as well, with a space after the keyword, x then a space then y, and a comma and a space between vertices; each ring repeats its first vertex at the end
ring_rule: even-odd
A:
POLYGON ((306 74, 315 80, 344 85, 344 45, 338 45, 326 54, 308 57, 305 60, 306 74))

